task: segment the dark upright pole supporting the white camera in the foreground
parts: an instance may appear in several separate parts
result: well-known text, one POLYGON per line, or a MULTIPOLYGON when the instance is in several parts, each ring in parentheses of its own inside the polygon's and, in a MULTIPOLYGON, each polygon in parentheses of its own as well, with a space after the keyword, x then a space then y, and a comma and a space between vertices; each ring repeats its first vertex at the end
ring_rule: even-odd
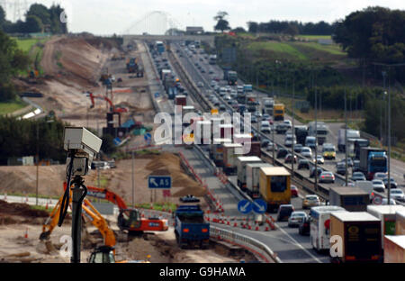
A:
POLYGON ((72 257, 71 263, 80 263, 81 231, 82 231, 82 203, 85 198, 86 189, 83 183, 85 180, 76 176, 73 180, 75 186, 72 188, 72 257))

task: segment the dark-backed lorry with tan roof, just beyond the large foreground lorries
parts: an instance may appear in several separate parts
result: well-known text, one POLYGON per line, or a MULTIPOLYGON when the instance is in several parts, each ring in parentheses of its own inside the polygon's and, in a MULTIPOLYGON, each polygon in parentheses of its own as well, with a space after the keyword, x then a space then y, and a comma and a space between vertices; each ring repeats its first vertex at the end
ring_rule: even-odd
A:
POLYGON ((349 212, 365 212, 370 204, 370 195, 358 187, 330 187, 329 204, 349 212))

